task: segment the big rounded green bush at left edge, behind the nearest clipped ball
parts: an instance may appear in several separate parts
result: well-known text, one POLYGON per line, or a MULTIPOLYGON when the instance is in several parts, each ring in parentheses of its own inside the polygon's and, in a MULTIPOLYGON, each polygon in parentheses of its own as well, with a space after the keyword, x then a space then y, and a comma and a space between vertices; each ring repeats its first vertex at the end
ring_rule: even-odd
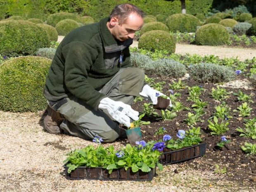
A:
POLYGON ((41 47, 49 47, 47 32, 29 21, 0 21, 0 54, 8 57, 33 55, 41 47))

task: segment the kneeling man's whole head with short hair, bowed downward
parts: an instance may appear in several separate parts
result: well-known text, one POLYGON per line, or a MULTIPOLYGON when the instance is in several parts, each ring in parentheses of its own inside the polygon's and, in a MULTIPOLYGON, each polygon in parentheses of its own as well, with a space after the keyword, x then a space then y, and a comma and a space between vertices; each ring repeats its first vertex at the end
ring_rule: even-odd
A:
POLYGON ((135 31, 143 25, 144 13, 132 4, 116 5, 110 14, 107 27, 115 39, 125 41, 134 38, 135 31))

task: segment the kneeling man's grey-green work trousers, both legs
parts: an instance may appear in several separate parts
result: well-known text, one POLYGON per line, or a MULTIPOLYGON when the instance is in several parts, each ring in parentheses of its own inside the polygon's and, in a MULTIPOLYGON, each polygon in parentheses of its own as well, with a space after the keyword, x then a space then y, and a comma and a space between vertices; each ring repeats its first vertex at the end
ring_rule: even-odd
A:
MULTIPOLYGON (((142 90, 144 78, 145 74, 140 69, 120 69, 99 92, 112 100, 131 104, 142 90)), ((65 118, 60 125, 63 130, 88 140, 99 136, 103 142, 113 142, 119 137, 119 125, 107 111, 95 110, 75 96, 66 99, 68 102, 57 109, 65 118)))

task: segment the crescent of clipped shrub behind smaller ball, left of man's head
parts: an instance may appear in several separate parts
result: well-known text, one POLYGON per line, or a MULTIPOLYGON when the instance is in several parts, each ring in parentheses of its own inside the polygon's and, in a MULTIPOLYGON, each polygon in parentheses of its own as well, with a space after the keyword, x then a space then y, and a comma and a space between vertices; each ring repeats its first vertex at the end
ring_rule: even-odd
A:
POLYGON ((46 24, 51 25, 55 27, 59 21, 62 21, 64 19, 73 19, 77 22, 81 21, 81 17, 74 13, 67 13, 67 12, 59 12, 55 14, 51 14, 49 17, 47 17, 46 24))

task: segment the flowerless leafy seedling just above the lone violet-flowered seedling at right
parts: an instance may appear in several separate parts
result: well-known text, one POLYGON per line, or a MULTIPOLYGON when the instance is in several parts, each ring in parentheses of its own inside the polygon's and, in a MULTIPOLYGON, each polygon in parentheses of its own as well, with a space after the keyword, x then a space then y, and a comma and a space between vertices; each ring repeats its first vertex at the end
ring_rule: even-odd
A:
POLYGON ((216 116, 213 117, 213 122, 210 120, 207 120, 209 125, 209 129, 212 131, 211 135, 221 135, 222 133, 225 133, 228 128, 228 121, 220 120, 221 122, 218 123, 218 118, 216 116))

